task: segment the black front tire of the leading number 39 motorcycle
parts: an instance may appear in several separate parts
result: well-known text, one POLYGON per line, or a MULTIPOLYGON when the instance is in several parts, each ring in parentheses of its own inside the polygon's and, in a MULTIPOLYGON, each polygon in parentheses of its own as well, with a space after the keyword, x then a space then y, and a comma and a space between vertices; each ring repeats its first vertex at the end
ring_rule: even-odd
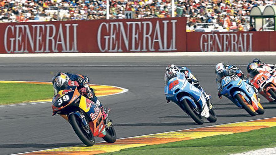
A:
POLYGON ((80 138, 80 140, 87 146, 93 146, 95 144, 95 137, 93 136, 93 133, 91 132, 89 128, 90 134, 85 134, 83 132, 84 129, 82 129, 82 122, 80 122, 79 119, 77 119, 76 115, 70 114, 68 116, 69 122, 74 129, 77 136, 80 138), (88 138, 89 135, 89 138, 88 138))

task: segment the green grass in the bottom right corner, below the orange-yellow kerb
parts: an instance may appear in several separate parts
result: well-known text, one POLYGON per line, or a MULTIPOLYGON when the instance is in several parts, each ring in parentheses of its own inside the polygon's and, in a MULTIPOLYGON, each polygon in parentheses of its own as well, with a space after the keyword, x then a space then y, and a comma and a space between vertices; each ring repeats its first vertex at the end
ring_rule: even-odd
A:
POLYGON ((276 147, 276 127, 263 128, 250 132, 218 135, 199 139, 171 142, 159 145, 148 145, 123 149, 118 152, 104 153, 105 155, 225 155, 247 152, 261 148, 276 147))

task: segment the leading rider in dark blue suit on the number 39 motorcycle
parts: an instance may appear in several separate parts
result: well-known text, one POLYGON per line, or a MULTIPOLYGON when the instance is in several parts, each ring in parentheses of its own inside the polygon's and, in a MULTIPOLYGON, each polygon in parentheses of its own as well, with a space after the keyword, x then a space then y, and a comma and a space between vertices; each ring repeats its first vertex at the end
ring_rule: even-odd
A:
POLYGON ((93 101, 101 109, 104 119, 106 119, 110 112, 110 108, 104 108, 101 102, 98 100, 97 96, 95 96, 94 90, 89 87, 89 79, 87 76, 62 72, 57 73, 52 80, 55 95, 58 93, 58 91, 66 89, 69 80, 77 82, 77 89, 79 90, 80 94, 93 101))

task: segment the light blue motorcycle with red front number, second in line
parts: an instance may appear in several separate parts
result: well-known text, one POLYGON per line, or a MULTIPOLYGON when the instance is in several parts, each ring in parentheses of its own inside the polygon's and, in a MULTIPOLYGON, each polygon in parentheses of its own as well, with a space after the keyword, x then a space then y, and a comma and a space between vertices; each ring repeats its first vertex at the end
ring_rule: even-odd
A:
POLYGON ((190 84, 183 73, 167 82, 165 95, 168 101, 176 103, 198 124, 203 124, 204 118, 210 122, 217 120, 213 106, 206 103, 204 93, 190 84))

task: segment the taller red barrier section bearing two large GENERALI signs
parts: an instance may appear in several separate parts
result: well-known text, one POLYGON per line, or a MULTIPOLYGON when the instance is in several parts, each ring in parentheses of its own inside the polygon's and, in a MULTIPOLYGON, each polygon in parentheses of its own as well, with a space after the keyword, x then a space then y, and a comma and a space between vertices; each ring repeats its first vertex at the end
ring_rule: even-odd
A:
POLYGON ((0 23, 0 53, 186 51, 186 18, 0 23))

